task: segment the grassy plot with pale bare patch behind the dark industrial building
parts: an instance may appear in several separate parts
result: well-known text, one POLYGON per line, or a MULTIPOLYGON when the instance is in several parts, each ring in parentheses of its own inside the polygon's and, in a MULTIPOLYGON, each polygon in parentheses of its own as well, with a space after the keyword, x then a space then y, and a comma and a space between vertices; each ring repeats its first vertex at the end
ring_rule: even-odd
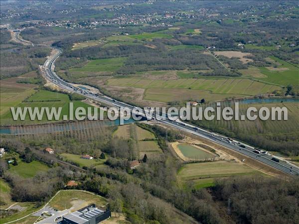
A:
POLYGON ((73 212, 90 204, 102 207, 107 205, 107 200, 99 195, 85 191, 66 190, 60 191, 49 203, 49 206, 59 211, 72 208, 73 212))

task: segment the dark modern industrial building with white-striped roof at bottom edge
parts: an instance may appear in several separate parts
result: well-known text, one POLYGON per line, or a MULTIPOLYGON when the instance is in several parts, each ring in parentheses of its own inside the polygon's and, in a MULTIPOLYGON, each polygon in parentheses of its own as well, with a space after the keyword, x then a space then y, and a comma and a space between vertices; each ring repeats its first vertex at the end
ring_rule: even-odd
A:
POLYGON ((104 212, 98 209, 95 204, 91 204, 62 217, 62 224, 98 224, 110 217, 110 210, 104 212))

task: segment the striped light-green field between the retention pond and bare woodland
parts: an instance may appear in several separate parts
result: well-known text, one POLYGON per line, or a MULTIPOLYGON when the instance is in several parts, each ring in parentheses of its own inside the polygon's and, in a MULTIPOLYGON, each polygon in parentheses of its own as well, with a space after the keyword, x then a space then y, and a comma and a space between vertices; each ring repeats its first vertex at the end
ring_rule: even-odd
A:
POLYGON ((213 186, 215 178, 258 173, 242 163, 217 161, 185 164, 177 175, 183 185, 191 181, 195 188, 203 188, 213 186))

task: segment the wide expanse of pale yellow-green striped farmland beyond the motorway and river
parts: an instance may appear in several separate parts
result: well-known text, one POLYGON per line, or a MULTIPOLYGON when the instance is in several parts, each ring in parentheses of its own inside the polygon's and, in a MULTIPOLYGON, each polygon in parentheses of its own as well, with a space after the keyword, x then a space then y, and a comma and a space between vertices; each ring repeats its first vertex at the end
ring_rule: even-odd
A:
POLYGON ((214 101, 225 98, 270 93, 280 89, 249 79, 177 79, 150 80, 137 78, 109 79, 110 86, 126 86, 146 89, 144 99, 170 102, 204 98, 214 101))

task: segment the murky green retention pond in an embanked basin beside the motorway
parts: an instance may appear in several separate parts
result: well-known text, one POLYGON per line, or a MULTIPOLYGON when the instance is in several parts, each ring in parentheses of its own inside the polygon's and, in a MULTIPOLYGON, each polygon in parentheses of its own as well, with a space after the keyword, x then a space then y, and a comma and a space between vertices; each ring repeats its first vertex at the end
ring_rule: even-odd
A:
POLYGON ((178 144, 177 147, 185 157, 190 159, 212 159, 216 157, 216 155, 203 151, 190 144, 181 143, 178 144))

